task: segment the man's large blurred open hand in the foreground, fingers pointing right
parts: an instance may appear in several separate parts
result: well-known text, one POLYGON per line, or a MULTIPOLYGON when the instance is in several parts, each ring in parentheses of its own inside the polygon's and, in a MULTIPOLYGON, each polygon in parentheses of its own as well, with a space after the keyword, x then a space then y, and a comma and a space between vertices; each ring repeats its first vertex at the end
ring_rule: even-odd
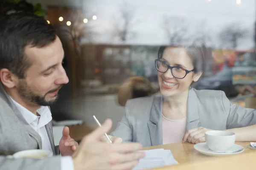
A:
POLYGON ((84 136, 79 147, 72 156, 74 170, 130 170, 141 158, 144 152, 140 143, 106 143, 102 136, 112 127, 110 119, 102 127, 84 136))

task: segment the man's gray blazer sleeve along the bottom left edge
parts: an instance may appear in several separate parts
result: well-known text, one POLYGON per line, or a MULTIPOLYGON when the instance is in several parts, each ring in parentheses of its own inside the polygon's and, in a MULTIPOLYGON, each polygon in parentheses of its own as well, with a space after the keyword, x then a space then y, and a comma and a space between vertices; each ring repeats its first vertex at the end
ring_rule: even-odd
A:
POLYGON ((61 170, 61 156, 44 159, 10 159, 0 156, 0 170, 61 170))

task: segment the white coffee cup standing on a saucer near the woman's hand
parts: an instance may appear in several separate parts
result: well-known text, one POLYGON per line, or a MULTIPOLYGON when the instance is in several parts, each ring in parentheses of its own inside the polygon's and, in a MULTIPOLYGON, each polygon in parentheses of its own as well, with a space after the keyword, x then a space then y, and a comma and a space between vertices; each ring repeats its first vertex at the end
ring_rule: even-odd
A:
POLYGON ((210 150, 228 150, 236 142, 236 133, 221 130, 210 130, 205 132, 205 142, 210 150))

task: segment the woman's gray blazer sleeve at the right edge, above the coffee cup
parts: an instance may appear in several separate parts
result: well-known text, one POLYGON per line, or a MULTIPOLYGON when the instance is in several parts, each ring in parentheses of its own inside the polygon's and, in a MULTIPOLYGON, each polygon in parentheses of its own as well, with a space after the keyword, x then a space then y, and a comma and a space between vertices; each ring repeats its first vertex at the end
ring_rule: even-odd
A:
POLYGON ((244 108, 240 105, 231 104, 223 91, 222 103, 227 113, 227 129, 246 127, 256 124, 256 110, 244 108))

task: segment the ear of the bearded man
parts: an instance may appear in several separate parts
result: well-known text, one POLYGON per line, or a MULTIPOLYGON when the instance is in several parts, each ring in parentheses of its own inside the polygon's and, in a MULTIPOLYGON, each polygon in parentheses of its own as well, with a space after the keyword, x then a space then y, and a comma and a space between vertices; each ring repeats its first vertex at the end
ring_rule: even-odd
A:
POLYGON ((18 78, 7 68, 3 68, 0 70, 0 80, 4 86, 7 88, 14 88, 17 86, 18 78))

